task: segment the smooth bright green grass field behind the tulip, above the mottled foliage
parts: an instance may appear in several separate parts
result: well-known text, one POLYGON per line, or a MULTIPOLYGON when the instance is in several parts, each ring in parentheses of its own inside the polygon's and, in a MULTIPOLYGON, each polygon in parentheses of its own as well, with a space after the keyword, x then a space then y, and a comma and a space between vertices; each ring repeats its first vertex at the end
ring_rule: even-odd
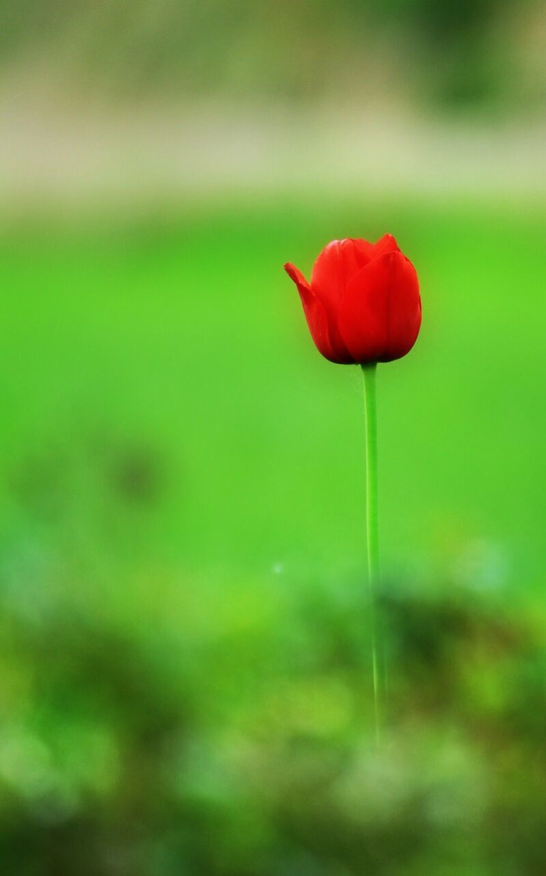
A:
POLYGON ((386 569, 449 575, 479 542, 517 590, 541 578, 546 215, 314 204, 110 226, 4 234, 2 464, 8 484, 60 474, 51 508, 4 491, 8 521, 208 579, 361 569, 360 375, 316 355, 281 265, 390 230, 424 319, 379 371, 386 569), (142 479, 125 494, 124 467, 142 479))

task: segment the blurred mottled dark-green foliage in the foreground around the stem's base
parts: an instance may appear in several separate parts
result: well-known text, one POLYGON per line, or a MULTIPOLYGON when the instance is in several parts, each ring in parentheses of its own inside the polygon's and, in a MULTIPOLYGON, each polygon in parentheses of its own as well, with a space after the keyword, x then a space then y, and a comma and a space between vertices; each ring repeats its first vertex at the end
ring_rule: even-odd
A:
POLYGON ((382 607, 378 751, 357 581, 186 593, 176 631, 4 598, 6 872, 542 876, 545 618, 382 607))

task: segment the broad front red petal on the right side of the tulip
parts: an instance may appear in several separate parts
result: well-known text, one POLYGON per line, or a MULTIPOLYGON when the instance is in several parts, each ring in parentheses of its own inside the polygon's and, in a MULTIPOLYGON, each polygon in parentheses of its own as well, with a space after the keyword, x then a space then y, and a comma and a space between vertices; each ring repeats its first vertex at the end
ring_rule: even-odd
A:
POLYGON ((338 322, 356 362, 405 356, 421 327, 419 281, 408 258, 388 251, 365 265, 347 286, 338 322))

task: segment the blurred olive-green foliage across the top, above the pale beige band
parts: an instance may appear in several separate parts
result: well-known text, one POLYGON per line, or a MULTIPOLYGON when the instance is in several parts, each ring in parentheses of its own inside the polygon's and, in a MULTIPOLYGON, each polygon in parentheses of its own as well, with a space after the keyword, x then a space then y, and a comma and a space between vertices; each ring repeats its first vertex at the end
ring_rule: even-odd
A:
POLYGON ((0 60, 4 74, 61 94, 532 106, 545 94, 542 9, 536 0, 517 13, 507 0, 4 0, 0 60))

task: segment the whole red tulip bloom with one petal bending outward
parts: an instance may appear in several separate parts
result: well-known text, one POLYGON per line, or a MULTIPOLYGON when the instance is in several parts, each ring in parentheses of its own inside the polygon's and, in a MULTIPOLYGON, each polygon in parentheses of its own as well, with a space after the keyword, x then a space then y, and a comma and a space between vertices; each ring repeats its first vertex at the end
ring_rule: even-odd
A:
POLYGON ((316 259, 310 284, 294 265, 284 267, 316 348, 330 362, 391 362, 413 347, 421 327, 419 281, 392 235, 377 244, 333 240, 316 259))

